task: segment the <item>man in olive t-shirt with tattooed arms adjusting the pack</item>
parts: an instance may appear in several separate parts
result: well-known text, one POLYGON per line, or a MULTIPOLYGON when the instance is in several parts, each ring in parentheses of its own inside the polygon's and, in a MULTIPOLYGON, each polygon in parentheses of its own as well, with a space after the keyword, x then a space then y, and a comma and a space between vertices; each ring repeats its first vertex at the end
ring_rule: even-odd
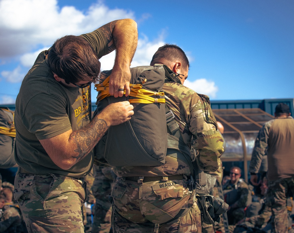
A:
POLYGON ((130 63, 138 42, 131 19, 112 21, 81 36, 64 36, 37 57, 16 99, 14 199, 29 232, 83 232, 84 177, 92 149, 111 125, 131 118, 128 101, 91 119, 91 82, 99 58, 116 49, 109 93, 129 94, 130 63), (91 123, 90 123, 91 120, 91 123))

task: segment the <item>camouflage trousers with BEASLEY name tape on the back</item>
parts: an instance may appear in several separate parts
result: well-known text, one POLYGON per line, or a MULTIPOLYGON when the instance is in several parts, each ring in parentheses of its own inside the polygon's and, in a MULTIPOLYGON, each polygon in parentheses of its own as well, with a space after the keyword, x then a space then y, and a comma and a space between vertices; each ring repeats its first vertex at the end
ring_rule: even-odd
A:
POLYGON ((195 190, 185 180, 136 182, 120 178, 111 192, 113 233, 201 232, 195 190))

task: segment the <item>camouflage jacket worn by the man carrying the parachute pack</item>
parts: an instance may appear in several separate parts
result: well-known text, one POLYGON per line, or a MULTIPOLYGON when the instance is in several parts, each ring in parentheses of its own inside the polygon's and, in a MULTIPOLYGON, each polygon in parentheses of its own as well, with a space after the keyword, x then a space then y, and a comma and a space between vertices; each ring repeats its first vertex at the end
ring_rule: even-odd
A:
MULTIPOLYGON (((216 119, 210 107, 208 96, 181 85, 181 81, 169 68, 166 68, 166 82, 163 90, 166 105, 175 115, 184 143, 197 150, 198 167, 205 171, 216 171, 223 153, 223 138, 217 131, 216 119)), ((166 176, 190 175, 184 162, 166 156, 163 165, 152 167, 113 167, 118 176, 166 176)))

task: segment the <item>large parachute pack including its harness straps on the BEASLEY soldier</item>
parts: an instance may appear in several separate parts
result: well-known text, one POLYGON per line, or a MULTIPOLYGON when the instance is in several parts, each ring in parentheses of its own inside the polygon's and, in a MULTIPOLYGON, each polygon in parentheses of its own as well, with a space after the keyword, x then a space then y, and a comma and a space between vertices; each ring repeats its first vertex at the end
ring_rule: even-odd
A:
MULTIPOLYGON (((103 83, 96 84, 99 91, 94 116, 108 104, 129 100, 134 105, 131 120, 111 126, 95 146, 94 163, 111 166, 156 166, 162 165, 165 156, 176 157, 186 162, 191 170, 191 186, 206 185, 205 173, 198 169, 196 151, 183 142, 173 112, 165 105, 162 87, 167 80, 173 80, 173 73, 165 65, 138 66, 131 68, 131 93, 129 97, 114 98, 108 93, 111 71, 103 83), (152 96, 155 96, 152 97, 152 96)), ((199 94, 200 95, 200 94, 199 94)))

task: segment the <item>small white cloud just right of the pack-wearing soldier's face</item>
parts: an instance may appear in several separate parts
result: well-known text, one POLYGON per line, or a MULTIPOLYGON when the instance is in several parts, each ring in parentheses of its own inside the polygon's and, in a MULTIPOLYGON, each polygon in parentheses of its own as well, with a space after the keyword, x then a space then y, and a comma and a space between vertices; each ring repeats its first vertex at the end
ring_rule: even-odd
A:
POLYGON ((191 88, 197 93, 208 95, 211 98, 216 98, 218 87, 215 82, 208 81, 205 78, 196 79, 195 81, 189 81, 188 79, 184 82, 184 86, 191 88))

